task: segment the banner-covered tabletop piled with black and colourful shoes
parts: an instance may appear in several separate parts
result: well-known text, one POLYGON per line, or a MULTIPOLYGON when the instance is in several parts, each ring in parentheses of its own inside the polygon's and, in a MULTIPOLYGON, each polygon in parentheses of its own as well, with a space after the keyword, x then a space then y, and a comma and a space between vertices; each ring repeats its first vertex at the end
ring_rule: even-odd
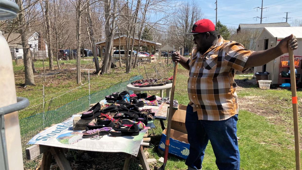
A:
MULTIPOLYGON (((143 136, 153 125, 162 102, 146 93, 116 92, 82 114, 43 130, 27 144, 99 152, 125 152, 137 156, 143 136)), ((177 104, 177 101, 173 101, 177 104)))

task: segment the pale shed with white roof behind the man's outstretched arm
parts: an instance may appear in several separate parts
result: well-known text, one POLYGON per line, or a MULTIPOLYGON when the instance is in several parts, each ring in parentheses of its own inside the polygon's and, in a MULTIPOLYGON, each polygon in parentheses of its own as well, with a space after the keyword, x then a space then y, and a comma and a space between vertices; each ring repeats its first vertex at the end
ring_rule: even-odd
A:
MULTIPOLYGON (((270 49, 290 34, 294 34, 298 40, 298 49, 294 50, 294 55, 302 56, 302 27, 265 27, 256 40, 256 51, 270 49)), ((288 53, 284 55, 288 55, 288 53)), ((263 66, 255 67, 254 73, 267 71, 270 73, 268 79, 272 81, 272 84, 278 84, 279 64, 280 57, 263 66)))

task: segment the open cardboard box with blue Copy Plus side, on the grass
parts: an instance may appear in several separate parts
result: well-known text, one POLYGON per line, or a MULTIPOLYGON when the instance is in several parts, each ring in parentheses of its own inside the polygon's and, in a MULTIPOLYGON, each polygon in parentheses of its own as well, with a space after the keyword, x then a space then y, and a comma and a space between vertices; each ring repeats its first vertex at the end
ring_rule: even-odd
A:
MULTIPOLYGON (((172 124, 170 132, 169 153, 187 159, 189 155, 190 144, 188 142, 188 134, 185 128, 186 119, 185 105, 178 105, 178 109, 172 113, 172 124)), ((159 149, 165 150, 166 129, 162 131, 162 138, 159 143, 159 149)))

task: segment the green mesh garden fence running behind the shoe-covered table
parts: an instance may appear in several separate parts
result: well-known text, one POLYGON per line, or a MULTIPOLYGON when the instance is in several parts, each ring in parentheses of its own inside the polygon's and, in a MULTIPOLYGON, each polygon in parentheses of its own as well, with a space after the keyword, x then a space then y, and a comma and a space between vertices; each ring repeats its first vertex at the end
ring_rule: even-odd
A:
MULTIPOLYGON (((127 84, 139 79, 143 79, 143 76, 133 76, 127 81, 120 82, 112 85, 110 88, 97 91, 92 94, 90 94, 90 86, 89 91, 82 88, 83 86, 89 85, 88 80, 88 82, 77 88, 60 92, 63 94, 52 97, 50 100, 43 101, 43 103, 19 111, 24 168, 33 168, 39 164, 40 157, 37 157, 34 160, 27 160, 25 154, 25 149, 29 147, 29 145, 26 145, 26 143, 37 133, 39 133, 45 127, 50 127, 52 124, 60 123, 66 120, 73 114, 87 110, 91 103, 96 103, 103 100, 108 94, 127 90, 127 84)), ((43 100, 44 98, 45 96, 35 100, 43 100)))

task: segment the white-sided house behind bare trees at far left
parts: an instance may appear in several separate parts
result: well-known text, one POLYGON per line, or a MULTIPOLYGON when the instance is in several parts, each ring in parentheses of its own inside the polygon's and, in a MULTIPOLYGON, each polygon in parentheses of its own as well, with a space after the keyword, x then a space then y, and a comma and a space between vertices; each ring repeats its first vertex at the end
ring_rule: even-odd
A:
MULTIPOLYGON (((4 33, 3 36, 8 42, 8 46, 12 53, 15 53, 16 58, 23 58, 23 47, 20 33, 4 33)), ((47 57, 47 42, 37 32, 28 33, 28 44, 32 52, 44 51, 44 55, 47 57)))

